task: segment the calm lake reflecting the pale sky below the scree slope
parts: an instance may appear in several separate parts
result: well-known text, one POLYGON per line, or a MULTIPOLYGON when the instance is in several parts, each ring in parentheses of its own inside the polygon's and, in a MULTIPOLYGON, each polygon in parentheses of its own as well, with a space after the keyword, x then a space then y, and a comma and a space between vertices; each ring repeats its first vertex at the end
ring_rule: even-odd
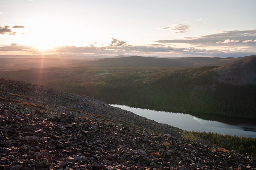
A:
MULTIPOLYGON (((256 138, 256 124, 250 120, 249 123, 246 122, 246 119, 243 119, 241 123, 240 118, 227 117, 223 116, 223 119, 228 119, 228 123, 221 123, 219 121, 205 120, 198 118, 189 114, 165 112, 165 111, 156 111, 148 109, 133 108, 124 105, 114 105, 120 109, 131 111, 137 115, 147 117, 148 119, 155 120, 158 123, 169 124, 176 126, 182 130, 188 131, 209 131, 224 133, 236 136, 252 137, 256 138), (236 120, 237 119, 237 120, 236 120), (230 121, 232 120, 232 122, 230 121), (239 123, 238 123, 239 122, 239 123)), ((205 114, 204 114, 205 115, 205 114)), ((220 116, 221 115, 217 115, 220 116)), ((214 119, 217 117, 214 115, 214 119)), ((222 118, 219 117, 219 120, 222 118)))

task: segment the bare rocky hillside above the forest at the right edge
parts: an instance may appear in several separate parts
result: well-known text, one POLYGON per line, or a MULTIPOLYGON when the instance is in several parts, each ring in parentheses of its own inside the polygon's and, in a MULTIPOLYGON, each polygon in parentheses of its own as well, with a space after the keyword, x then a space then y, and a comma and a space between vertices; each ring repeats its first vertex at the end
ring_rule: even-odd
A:
POLYGON ((240 57, 216 70, 221 83, 237 85, 256 84, 256 55, 240 57))

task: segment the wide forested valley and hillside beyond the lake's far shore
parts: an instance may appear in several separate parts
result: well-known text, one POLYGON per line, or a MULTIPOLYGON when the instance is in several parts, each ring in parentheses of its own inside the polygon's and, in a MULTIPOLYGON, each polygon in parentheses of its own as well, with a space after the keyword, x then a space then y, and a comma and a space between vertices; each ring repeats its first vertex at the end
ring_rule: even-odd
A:
POLYGON ((52 67, 1 71, 0 76, 94 96, 106 103, 256 119, 256 86, 215 83, 212 70, 216 68, 52 67))

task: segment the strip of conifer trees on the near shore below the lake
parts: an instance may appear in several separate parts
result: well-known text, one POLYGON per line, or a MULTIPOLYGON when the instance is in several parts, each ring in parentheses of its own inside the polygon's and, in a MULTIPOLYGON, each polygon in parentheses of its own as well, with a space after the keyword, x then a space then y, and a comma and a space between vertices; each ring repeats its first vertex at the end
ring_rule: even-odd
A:
POLYGON ((256 156, 256 138, 237 137, 212 132, 192 131, 192 134, 228 150, 237 150, 256 156))

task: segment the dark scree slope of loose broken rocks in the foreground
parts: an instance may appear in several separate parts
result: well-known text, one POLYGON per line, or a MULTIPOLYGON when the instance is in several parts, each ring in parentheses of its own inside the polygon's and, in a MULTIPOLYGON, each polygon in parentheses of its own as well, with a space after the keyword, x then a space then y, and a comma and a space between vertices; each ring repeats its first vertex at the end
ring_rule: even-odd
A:
POLYGON ((0 106, 0 169, 256 169, 251 156, 88 96, 2 78, 0 106))

